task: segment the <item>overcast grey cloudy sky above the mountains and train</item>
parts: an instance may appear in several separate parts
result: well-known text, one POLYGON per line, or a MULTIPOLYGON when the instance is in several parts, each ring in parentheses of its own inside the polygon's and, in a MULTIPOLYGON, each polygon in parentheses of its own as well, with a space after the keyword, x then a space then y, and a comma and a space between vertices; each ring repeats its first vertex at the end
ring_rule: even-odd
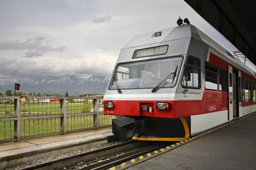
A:
POLYGON ((183 0, 0 0, 0 81, 110 74, 133 35, 179 16, 236 50, 183 0))

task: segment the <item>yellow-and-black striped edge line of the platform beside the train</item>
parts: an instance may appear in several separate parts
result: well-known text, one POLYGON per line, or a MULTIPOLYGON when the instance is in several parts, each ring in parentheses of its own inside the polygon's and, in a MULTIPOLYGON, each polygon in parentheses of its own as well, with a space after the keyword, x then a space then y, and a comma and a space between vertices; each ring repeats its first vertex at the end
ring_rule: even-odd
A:
MULTIPOLYGON (((250 114, 250 115, 252 115, 252 114, 250 114)), ((249 115, 247 115, 247 116, 249 116, 249 115)), ((246 116, 246 117, 247 117, 247 116, 246 116)), ((132 160, 129 160, 129 161, 127 161, 127 162, 124 162, 124 163, 122 163, 122 164, 120 164, 120 165, 111 167, 111 168, 109 168, 109 169, 107 169, 107 170, 117 170, 117 169, 120 169, 122 165, 127 166, 127 165, 129 165, 129 164, 135 163, 135 162, 137 162, 137 161, 140 161, 140 160, 142 160, 142 159, 148 158, 148 157, 150 157, 150 156, 156 156, 156 155, 162 154, 161 152, 163 152, 163 151, 167 151, 167 152, 168 152, 168 151, 170 151, 170 150, 172 150, 172 149, 174 149, 174 148, 176 148, 176 147, 179 147, 180 144, 181 144, 181 145, 184 145, 184 144, 186 144, 186 143, 191 142, 191 140, 196 140, 197 138, 202 138, 202 137, 204 137, 204 136, 206 136, 206 135, 208 135, 208 134, 210 134, 210 133, 212 133, 212 132, 218 131, 218 130, 220 130, 220 129, 226 127, 226 126, 229 126, 229 125, 231 125, 231 124, 234 124, 236 121, 242 120, 242 119, 244 119, 244 118, 245 118, 245 117, 242 117, 241 119, 237 119, 237 120, 232 121, 232 122, 229 122, 229 123, 227 123, 227 124, 223 124, 223 125, 221 125, 221 126, 219 126, 219 127, 217 127, 217 128, 214 128, 214 129, 212 129, 212 130, 206 131, 206 132, 201 133, 201 134, 199 134, 199 135, 196 135, 196 136, 194 136, 194 137, 191 137, 191 138, 188 138, 188 139, 186 139, 186 140, 180 141, 180 142, 178 142, 178 143, 176 143, 176 144, 173 144, 173 145, 170 145, 170 146, 166 146, 166 147, 161 148, 161 149, 159 149, 159 150, 157 150, 157 151, 147 153, 147 154, 145 154, 145 155, 143 155, 143 156, 139 156, 139 157, 137 157, 137 158, 135 158, 135 159, 132 159, 132 160)), ((147 160, 147 159, 146 159, 146 160, 147 160)), ((124 166, 122 166, 122 168, 124 168, 124 166)))

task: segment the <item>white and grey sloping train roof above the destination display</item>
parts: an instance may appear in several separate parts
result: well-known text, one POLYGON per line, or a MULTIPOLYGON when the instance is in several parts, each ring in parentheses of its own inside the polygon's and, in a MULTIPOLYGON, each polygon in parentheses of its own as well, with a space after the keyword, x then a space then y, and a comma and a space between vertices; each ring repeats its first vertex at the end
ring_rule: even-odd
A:
POLYGON ((251 73, 255 77, 255 73, 253 70, 245 65, 242 61, 238 60, 235 56, 225 50, 222 46, 220 46, 217 42, 211 39, 209 36, 204 34, 201 30, 196 28, 196 26, 191 24, 176 26, 172 28, 167 28, 164 30, 158 30, 155 32, 148 32, 140 35, 135 35, 130 39, 126 45, 122 49, 132 48, 132 47, 139 47, 144 45, 150 45, 154 43, 160 43, 165 41, 171 41, 175 39, 183 39, 193 37, 200 41, 203 41, 207 45, 211 46, 213 49, 224 55, 228 60, 231 62, 236 63, 236 65, 240 66, 241 68, 245 69, 249 73, 251 73), (161 32, 161 36, 155 37, 156 32, 161 32))

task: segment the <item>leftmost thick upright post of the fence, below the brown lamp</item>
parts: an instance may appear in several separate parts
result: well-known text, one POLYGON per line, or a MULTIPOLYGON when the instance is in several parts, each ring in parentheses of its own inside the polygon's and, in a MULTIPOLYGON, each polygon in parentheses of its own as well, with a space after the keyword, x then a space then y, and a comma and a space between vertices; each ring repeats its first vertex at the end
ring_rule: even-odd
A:
POLYGON ((21 141, 21 131, 20 131, 20 99, 14 99, 14 138, 17 138, 17 142, 21 141))

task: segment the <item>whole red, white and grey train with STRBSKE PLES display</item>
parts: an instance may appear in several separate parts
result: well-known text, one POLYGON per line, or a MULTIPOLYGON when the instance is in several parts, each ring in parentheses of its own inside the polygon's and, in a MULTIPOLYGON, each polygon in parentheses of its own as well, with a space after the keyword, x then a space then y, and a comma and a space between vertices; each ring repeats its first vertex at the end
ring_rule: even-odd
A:
POLYGON ((191 24, 121 49, 104 114, 123 140, 181 141, 255 112, 255 72, 191 24))

